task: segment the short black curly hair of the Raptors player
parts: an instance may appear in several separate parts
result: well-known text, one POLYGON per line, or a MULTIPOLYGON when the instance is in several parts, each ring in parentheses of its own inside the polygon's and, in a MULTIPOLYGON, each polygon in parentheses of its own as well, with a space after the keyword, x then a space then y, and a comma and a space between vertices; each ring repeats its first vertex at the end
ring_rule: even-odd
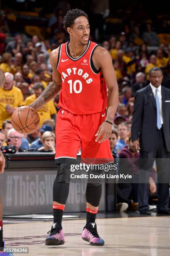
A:
POLYGON ((83 10, 77 8, 69 10, 64 17, 64 29, 67 31, 67 28, 69 28, 74 23, 75 19, 80 16, 85 16, 88 20, 88 16, 83 10))

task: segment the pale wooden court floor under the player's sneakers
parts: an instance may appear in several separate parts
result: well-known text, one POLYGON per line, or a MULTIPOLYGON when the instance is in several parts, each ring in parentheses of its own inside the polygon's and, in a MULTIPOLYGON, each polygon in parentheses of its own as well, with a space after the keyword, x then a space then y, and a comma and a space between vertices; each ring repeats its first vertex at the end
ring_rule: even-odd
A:
POLYGON ((44 244, 52 222, 28 222, 4 225, 7 247, 29 247, 29 254, 18 256, 50 255, 115 255, 115 256, 168 256, 170 255, 170 218, 137 217, 96 220, 97 230, 105 240, 104 246, 90 246, 81 238, 85 220, 64 220, 65 244, 47 248, 44 244))

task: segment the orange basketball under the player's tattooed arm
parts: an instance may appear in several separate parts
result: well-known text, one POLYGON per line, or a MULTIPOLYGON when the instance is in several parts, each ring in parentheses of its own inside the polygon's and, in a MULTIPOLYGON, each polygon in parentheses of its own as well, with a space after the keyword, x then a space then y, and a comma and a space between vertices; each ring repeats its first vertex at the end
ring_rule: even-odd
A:
POLYGON ((30 134, 37 129, 40 117, 34 108, 22 106, 13 112, 11 123, 18 133, 30 134))

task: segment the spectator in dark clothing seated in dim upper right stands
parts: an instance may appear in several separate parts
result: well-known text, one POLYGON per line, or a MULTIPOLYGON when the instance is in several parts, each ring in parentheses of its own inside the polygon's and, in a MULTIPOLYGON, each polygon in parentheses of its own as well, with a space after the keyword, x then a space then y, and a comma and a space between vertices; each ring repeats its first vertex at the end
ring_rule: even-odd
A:
POLYGON ((158 46, 159 45, 159 38, 157 33, 155 33, 150 24, 146 25, 146 32, 143 33, 143 41, 148 46, 158 46))

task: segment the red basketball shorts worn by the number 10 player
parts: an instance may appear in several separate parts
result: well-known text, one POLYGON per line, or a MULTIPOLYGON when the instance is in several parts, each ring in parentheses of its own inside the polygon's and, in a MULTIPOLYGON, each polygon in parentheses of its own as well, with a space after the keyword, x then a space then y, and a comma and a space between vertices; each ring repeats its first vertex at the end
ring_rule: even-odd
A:
MULTIPOLYGON (((106 118, 106 111, 92 115, 74 115, 62 108, 57 113, 55 162, 63 163, 77 159, 81 148, 81 159, 97 163, 113 161, 109 139, 95 142, 95 134, 106 118)), ((89 161, 88 161, 89 162, 89 161)))

